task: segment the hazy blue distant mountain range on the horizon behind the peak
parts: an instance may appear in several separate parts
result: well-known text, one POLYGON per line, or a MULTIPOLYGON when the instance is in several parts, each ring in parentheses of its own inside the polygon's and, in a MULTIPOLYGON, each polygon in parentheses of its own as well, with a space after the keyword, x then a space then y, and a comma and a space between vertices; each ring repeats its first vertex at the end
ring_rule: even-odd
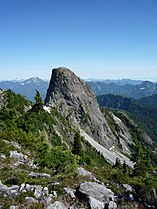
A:
MULTIPOLYGON (((88 79, 85 82, 93 89, 96 95, 115 94, 139 99, 157 94, 157 84, 150 81, 88 79)), ((38 77, 32 77, 27 80, 1 81, 0 88, 4 90, 11 89, 15 93, 20 93, 32 101, 34 101, 35 89, 37 89, 44 100, 48 81, 38 77)))

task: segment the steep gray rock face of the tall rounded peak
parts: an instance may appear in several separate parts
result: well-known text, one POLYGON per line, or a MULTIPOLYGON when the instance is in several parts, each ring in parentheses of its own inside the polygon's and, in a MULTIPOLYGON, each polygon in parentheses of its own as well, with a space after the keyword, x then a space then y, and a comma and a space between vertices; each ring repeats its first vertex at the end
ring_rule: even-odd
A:
POLYGON ((53 69, 45 105, 56 107, 105 147, 114 144, 115 137, 99 109, 95 94, 69 69, 53 69))

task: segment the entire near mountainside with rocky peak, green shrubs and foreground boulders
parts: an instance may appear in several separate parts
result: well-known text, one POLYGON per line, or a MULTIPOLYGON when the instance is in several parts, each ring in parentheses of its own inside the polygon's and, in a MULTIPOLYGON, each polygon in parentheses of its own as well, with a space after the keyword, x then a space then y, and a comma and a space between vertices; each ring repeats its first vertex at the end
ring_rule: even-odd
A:
POLYGON ((53 70, 45 104, 34 96, 32 104, 0 91, 1 208, 156 207, 154 144, 134 121, 100 112, 93 92, 66 68, 53 70))

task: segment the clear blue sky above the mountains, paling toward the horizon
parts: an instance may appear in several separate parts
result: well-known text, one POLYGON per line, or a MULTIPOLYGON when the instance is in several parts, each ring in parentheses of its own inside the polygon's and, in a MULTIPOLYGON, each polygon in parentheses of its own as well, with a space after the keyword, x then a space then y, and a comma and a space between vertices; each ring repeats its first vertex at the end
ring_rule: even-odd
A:
POLYGON ((157 81, 157 0, 0 0, 0 80, 59 66, 157 81))

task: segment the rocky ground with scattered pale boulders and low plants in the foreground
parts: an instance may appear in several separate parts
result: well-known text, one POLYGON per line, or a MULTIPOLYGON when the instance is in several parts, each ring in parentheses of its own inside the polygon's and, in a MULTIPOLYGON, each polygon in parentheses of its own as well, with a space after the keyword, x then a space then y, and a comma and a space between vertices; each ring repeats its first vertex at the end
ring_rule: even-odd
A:
MULTIPOLYGON (((72 179, 73 183, 68 185, 68 182, 65 182, 63 184, 62 180, 60 182, 54 180, 54 171, 49 170, 48 173, 35 172, 38 168, 33 163, 33 159, 30 158, 29 152, 26 150, 24 153, 20 152, 23 149, 18 143, 7 140, 4 140, 4 143, 6 148, 10 147, 13 150, 10 150, 6 155, 1 154, 1 171, 4 172, 7 161, 8 168, 25 172, 29 181, 31 179, 32 184, 27 182, 19 184, 16 175, 7 179, 6 182, 10 186, 0 182, 0 208, 139 208, 139 204, 134 200, 134 191, 127 184, 123 185, 125 195, 117 196, 83 167, 77 168, 77 172, 72 179), (9 156, 7 156, 8 154, 9 156), (35 182, 38 184, 35 184, 35 182)), ((56 180, 59 179, 59 177, 56 178, 56 180)))

